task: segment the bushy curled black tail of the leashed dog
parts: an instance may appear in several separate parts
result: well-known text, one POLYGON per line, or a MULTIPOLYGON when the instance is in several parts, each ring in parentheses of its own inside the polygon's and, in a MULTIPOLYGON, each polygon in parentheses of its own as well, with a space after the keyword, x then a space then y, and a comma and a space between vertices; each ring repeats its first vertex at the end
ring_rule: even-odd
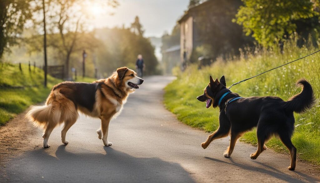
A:
POLYGON ((296 85, 297 87, 302 87, 302 91, 299 94, 292 96, 287 102, 284 102, 283 107, 286 111, 290 112, 306 112, 316 104, 316 98, 313 95, 312 87, 306 79, 299 79, 296 85))

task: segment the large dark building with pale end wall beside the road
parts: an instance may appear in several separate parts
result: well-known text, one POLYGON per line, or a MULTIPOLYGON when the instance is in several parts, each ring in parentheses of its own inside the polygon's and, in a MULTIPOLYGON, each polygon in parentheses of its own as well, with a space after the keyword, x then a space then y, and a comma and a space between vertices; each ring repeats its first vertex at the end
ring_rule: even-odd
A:
POLYGON ((232 21, 242 4, 241 0, 208 0, 185 12, 178 21, 182 68, 200 56, 226 58, 239 54, 239 48, 252 45, 253 39, 232 21), (196 49, 200 46, 202 49, 196 49), (203 49, 209 50, 210 55, 203 55, 203 49))

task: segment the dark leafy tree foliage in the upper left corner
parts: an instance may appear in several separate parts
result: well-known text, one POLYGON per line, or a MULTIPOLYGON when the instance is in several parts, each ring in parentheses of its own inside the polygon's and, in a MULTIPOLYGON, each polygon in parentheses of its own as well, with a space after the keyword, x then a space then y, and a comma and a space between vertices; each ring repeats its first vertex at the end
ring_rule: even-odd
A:
POLYGON ((0 1, 0 59, 4 51, 18 43, 25 22, 32 17, 31 0, 0 1))

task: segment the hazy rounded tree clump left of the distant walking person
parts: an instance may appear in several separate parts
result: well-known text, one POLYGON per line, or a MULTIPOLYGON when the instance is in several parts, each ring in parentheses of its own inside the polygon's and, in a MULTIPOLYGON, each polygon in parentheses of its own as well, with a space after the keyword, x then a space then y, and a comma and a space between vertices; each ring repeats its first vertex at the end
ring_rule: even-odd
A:
POLYGON ((97 49, 99 71, 108 77, 118 67, 135 70, 137 55, 142 54, 146 64, 145 74, 157 74, 158 61, 149 39, 126 28, 98 29, 96 36, 101 41, 97 49))

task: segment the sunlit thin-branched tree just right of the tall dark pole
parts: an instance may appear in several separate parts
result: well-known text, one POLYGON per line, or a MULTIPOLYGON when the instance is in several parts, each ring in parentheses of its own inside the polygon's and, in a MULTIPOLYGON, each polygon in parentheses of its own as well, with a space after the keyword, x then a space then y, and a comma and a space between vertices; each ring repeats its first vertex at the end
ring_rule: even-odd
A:
MULTIPOLYGON (((87 31, 85 24, 92 17, 90 10, 86 7, 94 3, 103 7, 118 6, 116 0, 48 0, 46 2, 47 27, 50 34, 48 46, 55 48, 59 54, 63 55, 66 78, 69 78, 71 55, 84 49, 79 46, 84 45, 79 43, 79 35, 87 31)), ((36 18, 34 23, 40 27, 43 25, 36 18)))

